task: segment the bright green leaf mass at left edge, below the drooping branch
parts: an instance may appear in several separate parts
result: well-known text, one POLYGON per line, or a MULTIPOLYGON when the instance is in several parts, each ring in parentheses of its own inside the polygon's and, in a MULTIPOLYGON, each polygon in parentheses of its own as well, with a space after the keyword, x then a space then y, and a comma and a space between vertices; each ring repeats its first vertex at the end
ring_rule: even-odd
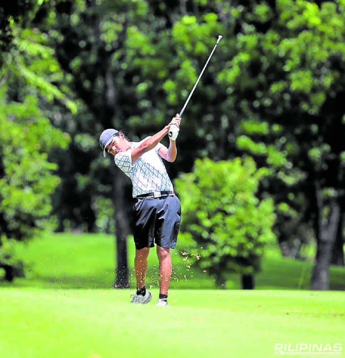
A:
POLYGON ((69 137, 51 126, 35 97, 10 101, 5 89, 0 93, 1 232, 23 240, 49 223, 50 195, 60 180, 47 153, 66 147, 69 137))

